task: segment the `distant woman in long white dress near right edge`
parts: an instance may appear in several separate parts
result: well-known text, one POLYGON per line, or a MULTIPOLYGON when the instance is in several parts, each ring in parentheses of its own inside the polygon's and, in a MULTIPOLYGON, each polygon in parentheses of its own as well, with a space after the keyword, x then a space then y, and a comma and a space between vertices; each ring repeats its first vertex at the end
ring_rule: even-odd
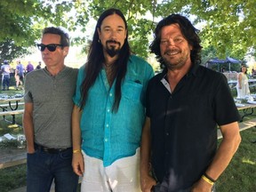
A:
POLYGON ((241 72, 237 75, 236 91, 238 99, 244 99, 245 96, 250 95, 246 66, 242 66, 241 72))

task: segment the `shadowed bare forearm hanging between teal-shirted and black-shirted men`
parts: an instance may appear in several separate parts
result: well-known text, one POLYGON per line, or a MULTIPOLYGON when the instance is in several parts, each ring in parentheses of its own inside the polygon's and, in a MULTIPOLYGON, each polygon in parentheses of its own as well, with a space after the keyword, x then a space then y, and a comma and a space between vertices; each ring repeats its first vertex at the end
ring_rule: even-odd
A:
POLYGON ((147 117, 141 135, 140 145, 140 188, 142 192, 150 192, 152 186, 156 185, 156 180, 150 175, 150 155, 151 155, 151 134, 150 119, 147 117))

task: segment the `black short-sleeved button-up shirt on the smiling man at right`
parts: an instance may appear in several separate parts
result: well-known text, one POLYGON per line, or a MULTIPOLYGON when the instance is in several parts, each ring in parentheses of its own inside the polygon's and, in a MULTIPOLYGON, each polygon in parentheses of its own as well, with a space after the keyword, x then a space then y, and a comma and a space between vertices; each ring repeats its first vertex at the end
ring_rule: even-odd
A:
POLYGON ((217 124, 236 122, 240 116, 222 74, 195 66, 173 92, 163 84, 165 75, 148 83, 147 116, 156 179, 164 191, 175 191, 192 186, 212 162, 217 124))

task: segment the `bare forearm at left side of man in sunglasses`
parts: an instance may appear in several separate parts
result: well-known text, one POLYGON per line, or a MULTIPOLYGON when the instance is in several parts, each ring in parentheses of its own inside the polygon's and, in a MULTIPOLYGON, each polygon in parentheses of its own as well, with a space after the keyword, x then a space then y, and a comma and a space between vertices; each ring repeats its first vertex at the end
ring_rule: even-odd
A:
POLYGON ((27 151, 29 154, 32 154, 35 152, 33 103, 25 103, 24 114, 23 114, 23 130, 27 140, 27 151))

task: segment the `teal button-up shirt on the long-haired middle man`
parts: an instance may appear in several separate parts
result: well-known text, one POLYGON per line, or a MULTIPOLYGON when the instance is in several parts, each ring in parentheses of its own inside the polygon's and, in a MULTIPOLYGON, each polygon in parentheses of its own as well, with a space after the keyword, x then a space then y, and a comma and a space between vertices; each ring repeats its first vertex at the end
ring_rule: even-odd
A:
MULTIPOLYGON (((99 158, 104 166, 117 159, 133 156, 140 147, 140 136, 145 120, 145 92, 153 69, 145 60, 132 55, 122 84, 122 98, 116 113, 114 81, 108 84, 106 71, 100 71, 88 92, 81 116, 82 149, 87 156, 99 158)), ((84 66, 79 69, 74 102, 79 106, 80 86, 84 80, 84 66)))

